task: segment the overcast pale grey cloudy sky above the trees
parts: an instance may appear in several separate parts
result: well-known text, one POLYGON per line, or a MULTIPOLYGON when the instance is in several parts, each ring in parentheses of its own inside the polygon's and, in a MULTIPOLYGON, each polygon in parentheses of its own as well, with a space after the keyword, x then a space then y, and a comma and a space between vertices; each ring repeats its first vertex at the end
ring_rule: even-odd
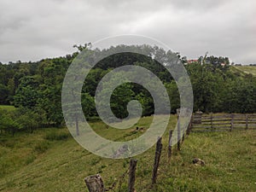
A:
POLYGON ((255 0, 0 0, 0 61, 67 55, 121 34, 159 39, 198 58, 256 63, 255 0))

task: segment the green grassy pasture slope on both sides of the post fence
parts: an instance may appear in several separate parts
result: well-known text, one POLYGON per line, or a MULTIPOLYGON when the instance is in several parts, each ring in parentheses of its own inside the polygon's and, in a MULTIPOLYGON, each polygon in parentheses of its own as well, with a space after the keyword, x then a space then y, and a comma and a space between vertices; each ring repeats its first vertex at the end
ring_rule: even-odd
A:
MULTIPOLYGON (((150 121, 143 118, 138 126, 147 127, 150 121)), ((171 129, 175 122, 172 116, 171 129)), ((106 129, 101 123, 93 126, 114 140, 122 135, 134 136, 130 131, 106 129)), ((129 160, 98 157, 81 148, 71 137, 61 140, 63 136, 67 136, 65 129, 45 129, 32 135, 0 137, 0 191, 87 191, 84 177, 100 172, 109 186, 129 166, 129 160)), ((160 175, 154 189, 148 187, 154 148, 136 157, 137 191, 256 191, 255 137, 256 131, 193 133, 185 140, 180 153, 174 149, 168 164, 165 136, 160 175), (194 157, 205 160, 207 166, 191 164, 194 157)), ((127 177, 122 191, 127 191, 126 180, 127 177)))

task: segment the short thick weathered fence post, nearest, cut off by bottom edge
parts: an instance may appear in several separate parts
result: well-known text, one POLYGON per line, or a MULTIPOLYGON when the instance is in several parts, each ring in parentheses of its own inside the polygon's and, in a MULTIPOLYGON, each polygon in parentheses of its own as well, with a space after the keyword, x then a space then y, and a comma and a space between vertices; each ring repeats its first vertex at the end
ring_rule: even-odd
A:
POLYGON ((90 192, 105 192, 104 183, 100 174, 85 177, 84 181, 90 192))

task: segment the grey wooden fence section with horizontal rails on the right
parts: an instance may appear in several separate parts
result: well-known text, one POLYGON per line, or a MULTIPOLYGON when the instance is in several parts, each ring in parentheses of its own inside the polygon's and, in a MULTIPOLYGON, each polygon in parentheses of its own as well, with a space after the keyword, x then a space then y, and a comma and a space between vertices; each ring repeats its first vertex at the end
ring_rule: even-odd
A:
POLYGON ((191 131, 256 130, 256 114, 194 114, 191 131))

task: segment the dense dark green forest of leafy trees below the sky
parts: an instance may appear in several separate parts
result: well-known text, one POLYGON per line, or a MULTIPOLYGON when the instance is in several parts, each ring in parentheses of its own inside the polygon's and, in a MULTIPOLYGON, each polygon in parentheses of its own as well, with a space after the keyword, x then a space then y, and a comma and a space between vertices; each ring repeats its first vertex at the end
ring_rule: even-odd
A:
MULTIPOLYGON (((64 124, 61 113, 61 88, 67 68, 79 52, 86 48, 75 46, 78 50, 72 55, 44 59, 36 62, 0 62, 0 104, 14 105, 15 111, 0 110, 0 128, 13 134, 20 129, 33 131, 37 127, 64 124)), ((119 49, 111 47, 110 49, 119 49)), ((148 56, 164 57, 166 53, 158 47, 144 46, 148 56)), ((94 54, 106 49, 91 50, 94 54)), ((255 113, 256 78, 251 74, 235 73, 231 70, 229 59, 224 57, 200 57, 198 61, 181 61, 189 74, 194 92, 194 110, 204 113, 255 113), (223 65, 223 63, 225 65, 223 65)), ((82 90, 82 107, 86 118, 97 116, 94 96, 96 86, 102 77, 115 67, 125 65, 145 67, 157 75, 168 91, 172 113, 179 108, 179 92, 174 79, 157 61, 150 57, 133 53, 111 55, 97 63, 90 70, 82 90)), ((113 91, 111 108, 119 118, 127 116, 127 103, 138 100, 143 106, 143 115, 154 113, 152 96, 139 84, 123 84, 113 91)))

